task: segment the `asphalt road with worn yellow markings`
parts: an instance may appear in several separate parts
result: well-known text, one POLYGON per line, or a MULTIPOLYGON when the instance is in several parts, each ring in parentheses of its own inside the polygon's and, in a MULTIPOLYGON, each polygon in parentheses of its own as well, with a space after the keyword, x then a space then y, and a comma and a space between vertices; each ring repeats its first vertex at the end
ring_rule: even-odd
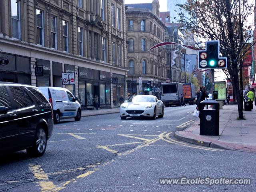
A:
POLYGON ((256 191, 254 153, 196 146, 173 138, 195 106, 169 107, 164 118, 119 114, 64 120, 44 156, 0 157, 0 191, 256 191), (160 178, 250 178, 250 185, 161 185, 160 178))

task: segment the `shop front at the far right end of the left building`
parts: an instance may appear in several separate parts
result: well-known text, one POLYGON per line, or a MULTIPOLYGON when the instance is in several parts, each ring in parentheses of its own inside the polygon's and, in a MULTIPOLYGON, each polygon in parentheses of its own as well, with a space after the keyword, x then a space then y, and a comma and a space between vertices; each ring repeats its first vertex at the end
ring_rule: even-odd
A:
POLYGON ((119 74, 112 75, 112 88, 113 88, 113 103, 114 106, 120 106, 122 99, 127 99, 125 94, 125 76, 119 74))

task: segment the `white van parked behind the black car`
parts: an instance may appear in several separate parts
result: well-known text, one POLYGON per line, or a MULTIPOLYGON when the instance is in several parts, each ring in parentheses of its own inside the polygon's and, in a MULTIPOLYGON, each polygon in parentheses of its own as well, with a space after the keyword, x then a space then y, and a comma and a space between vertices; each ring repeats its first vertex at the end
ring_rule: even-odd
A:
POLYGON ((77 101, 78 98, 68 89, 62 87, 38 87, 38 89, 52 105, 55 124, 63 118, 74 117, 76 121, 80 121, 81 105, 77 101))

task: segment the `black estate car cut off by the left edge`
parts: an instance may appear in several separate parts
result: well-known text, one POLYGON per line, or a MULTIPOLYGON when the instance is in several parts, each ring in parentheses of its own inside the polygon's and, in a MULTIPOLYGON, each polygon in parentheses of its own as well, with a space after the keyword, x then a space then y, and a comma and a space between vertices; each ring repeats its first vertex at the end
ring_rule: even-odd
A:
POLYGON ((42 156, 52 129, 52 107, 38 88, 0 82, 0 154, 42 156))

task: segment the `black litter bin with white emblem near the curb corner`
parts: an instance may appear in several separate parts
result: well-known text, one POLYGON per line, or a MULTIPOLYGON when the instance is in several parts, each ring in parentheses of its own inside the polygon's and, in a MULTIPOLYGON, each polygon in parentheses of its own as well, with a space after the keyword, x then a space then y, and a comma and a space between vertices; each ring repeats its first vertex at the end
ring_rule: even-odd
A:
POLYGON ((200 102, 202 108, 200 114, 200 135, 219 135, 220 104, 216 100, 204 100, 200 102), (212 105, 212 109, 208 108, 212 105))

